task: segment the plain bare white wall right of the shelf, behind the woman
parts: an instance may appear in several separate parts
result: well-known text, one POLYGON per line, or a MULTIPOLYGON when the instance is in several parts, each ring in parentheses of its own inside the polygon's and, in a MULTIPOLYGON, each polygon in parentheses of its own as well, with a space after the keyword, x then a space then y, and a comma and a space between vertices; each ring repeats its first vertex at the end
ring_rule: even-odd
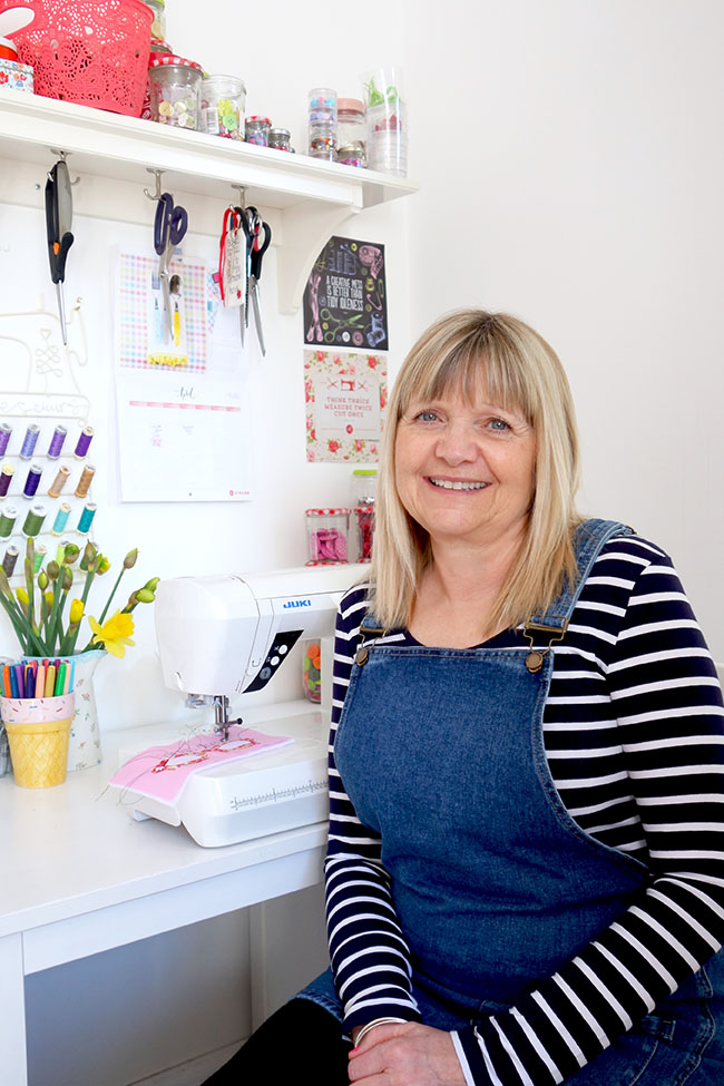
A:
POLYGON ((724 659, 724 10, 409 4, 412 327, 482 304, 571 380, 581 508, 674 557, 724 659))

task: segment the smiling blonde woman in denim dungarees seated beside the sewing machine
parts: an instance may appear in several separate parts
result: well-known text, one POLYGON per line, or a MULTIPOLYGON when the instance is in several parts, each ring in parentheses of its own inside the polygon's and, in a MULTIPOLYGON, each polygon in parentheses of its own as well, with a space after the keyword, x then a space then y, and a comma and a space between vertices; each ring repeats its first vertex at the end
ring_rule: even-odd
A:
POLYGON ((671 560, 576 515, 568 384, 513 317, 425 332, 385 441, 337 619, 333 975, 239 1074, 724 1083, 724 714, 671 560))

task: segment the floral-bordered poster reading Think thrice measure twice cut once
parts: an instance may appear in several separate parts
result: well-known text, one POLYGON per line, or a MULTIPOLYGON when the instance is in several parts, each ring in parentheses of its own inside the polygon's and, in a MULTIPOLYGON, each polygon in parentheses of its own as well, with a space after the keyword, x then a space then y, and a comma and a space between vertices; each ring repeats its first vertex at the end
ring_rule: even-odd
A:
POLYGON ((384 354, 304 352, 307 460, 376 463, 387 379, 384 354))

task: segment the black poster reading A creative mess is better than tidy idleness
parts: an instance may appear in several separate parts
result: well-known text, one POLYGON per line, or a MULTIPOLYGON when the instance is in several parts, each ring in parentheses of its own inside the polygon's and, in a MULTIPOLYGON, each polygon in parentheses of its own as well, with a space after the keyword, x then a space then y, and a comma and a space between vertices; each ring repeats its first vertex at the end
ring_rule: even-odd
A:
POLYGON ((330 238, 304 288, 304 342, 389 350, 384 245, 330 238))

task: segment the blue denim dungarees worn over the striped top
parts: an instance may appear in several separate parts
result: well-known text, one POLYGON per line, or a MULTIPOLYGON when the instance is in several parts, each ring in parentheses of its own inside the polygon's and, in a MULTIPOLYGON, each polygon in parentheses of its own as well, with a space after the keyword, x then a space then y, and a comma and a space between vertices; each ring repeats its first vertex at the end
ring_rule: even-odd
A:
MULTIPOLYGON (((576 583, 531 625, 565 633, 590 567, 619 534, 630 529, 600 520, 579 527, 576 583)), ((550 640, 548 634, 541 647, 550 640)), ((364 665, 353 667, 336 732, 346 793, 381 836, 422 1021, 440 1029, 515 1004, 613 923, 650 878, 644 863, 590 836, 564 806, 542 735, 552 652, 544 652, 536 673, 526 666, 528 652, 371 645, 364 665)), ((331 971, 301 995, 343 1018, 331 971)), ((699 970, 672 1000, 687 1012, 678 1028, 685 1050, 671 1044, 672 1007, 570 1082, 715 1086, 718 1079, 687 1077, 714 1031, 711 995, 699 970)))

